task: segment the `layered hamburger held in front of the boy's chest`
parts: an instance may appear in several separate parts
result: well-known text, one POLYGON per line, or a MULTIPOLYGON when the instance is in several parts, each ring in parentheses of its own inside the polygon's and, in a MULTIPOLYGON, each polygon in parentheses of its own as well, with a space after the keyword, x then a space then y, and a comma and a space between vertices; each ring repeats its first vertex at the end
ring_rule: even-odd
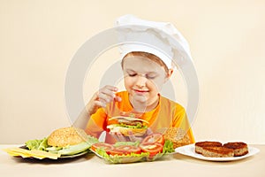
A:
POLYGON ((125 136, 131 135, 130 133, 135 136, 145 135, 149 124, 145 119, 122 116, 112 117, 109 121, 112 122, 107 126, 110 133, 121 133, 125 136))

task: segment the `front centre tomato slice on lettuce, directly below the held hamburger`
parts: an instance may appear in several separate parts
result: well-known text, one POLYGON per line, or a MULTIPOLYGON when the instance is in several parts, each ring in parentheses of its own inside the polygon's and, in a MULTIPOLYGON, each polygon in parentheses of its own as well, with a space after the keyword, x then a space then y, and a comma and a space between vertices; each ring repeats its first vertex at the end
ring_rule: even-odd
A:
POLYGON ((140 154, 141 150, 140 147, 132 146, 132 145, 120 145, 114 148, 113 150, 110 150, 110 155, 128 155, 128 154, 140 154))

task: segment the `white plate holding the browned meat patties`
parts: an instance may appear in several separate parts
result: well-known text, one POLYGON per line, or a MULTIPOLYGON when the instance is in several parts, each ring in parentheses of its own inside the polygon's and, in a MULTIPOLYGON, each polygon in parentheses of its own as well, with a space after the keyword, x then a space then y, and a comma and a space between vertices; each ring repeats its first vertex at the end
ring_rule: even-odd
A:
POLYGON ((208 158, 208 157, 204 157, 201 154, 198 154, 195 152, 195 146, 194 144, 189 144, 186 146, 182 146, 179 148, 176 148, 175 150, 176 152, 186 155, 186 156, 190 156, 193 158, 199 158, 201 160, 208 160, 208 161, 233 161, 233 160, 239 160, 242 158, 247 158, 250 156, 253 156, 254 154, 258 153, 260 150, 254 147, 249 147, 248 146, 248 153, 244 156, 240 156, 240 157, 232 157, 232 158, 208 158))

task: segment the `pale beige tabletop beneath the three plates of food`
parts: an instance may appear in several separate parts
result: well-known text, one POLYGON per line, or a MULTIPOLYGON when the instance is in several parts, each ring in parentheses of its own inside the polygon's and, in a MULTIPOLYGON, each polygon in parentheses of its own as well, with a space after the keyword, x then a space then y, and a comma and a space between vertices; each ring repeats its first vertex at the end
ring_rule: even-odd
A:
POLYGON ((258 148, 260 152, 237 161, 204 161, 176 153, 154 162, 132 164, 108 164, 94 154, 59 160, 14 158, 2 150, 18 146, 15 144, 0 145, 1 176, 265 176, 264 144, 249 145, 258 148))

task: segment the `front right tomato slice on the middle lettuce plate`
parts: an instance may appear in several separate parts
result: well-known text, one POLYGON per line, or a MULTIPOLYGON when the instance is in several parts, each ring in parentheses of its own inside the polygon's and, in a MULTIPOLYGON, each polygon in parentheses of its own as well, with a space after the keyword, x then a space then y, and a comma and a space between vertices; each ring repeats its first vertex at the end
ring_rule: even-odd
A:
POLYGON ((158 142, 143 142, 140 143, 140 149, 149 152, 149 158, 153 158, 155 154, 163 151, 163 145, 158 142))

